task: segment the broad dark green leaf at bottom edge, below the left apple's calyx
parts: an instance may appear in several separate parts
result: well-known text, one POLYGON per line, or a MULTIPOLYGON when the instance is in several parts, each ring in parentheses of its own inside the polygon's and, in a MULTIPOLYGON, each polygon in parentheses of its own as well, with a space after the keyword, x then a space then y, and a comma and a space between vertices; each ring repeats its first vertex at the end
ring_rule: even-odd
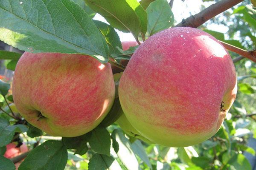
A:
POLYGON ((61 141, 49 140, 33 149, 19 170, 64 170, 67 148, 61 141))

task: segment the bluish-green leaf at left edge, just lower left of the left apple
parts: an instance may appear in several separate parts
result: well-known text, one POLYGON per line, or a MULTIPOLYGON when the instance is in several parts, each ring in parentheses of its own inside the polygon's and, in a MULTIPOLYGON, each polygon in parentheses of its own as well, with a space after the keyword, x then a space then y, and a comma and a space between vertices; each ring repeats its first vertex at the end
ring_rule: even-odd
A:
POLYGON ((6 119, 0 118, 0 147, 12 142, 15 132, 26 132, 25 125, 9 125, 6 119))

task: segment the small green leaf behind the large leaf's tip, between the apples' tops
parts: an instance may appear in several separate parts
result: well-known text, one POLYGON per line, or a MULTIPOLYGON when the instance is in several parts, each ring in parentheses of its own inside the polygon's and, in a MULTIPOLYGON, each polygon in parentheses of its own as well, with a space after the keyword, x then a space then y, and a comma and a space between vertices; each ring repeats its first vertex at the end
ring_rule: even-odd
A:
POLYGON ((93 22, 96 24, 96 26, 99 28, 99 31, 105 37, 109 48, 109 54, 119 53, 116 47, 122 48, 122 45, 115 29, 112 26, 101 21, 93 20, 93 22))

